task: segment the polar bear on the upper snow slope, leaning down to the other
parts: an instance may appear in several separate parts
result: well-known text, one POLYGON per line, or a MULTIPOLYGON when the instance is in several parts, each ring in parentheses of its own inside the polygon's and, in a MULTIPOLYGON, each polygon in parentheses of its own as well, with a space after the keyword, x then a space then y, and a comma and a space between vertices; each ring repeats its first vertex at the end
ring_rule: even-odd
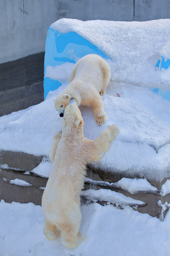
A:
POLYGON ((88 54, 78 60, 71 72, 69 85, 54 100, 59 116, 63 117, 70 98, 74 98, 78 106, 92 107, 96 123, 104 124, 107 116, 100 95, 105 94, 109 80, 110 67, 99 55, 88 54))

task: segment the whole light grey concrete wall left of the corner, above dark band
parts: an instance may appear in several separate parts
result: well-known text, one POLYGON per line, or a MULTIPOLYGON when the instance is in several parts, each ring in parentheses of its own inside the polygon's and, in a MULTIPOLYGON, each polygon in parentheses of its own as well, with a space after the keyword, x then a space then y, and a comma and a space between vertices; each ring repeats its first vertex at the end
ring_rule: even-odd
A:
POLYGON ((45 50, 48 27, 58 19, 55 0, 0 1, 0 63, 45 50))

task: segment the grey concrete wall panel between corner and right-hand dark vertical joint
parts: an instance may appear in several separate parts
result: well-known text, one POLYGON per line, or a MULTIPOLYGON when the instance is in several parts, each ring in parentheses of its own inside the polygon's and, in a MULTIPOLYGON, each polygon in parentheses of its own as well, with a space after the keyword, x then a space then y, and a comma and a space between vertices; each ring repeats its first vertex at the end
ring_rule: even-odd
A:
POLYGON ((133 20, 133 0, 58 1, 59 18, 85 20, 133 20))

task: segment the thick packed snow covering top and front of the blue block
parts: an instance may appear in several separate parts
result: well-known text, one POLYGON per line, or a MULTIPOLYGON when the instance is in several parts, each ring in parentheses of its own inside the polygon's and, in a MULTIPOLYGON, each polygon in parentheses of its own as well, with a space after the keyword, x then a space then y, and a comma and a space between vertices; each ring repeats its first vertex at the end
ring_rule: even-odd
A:
POLYGON ((59 19, 50 28, 61 34, 76 32, 110 57, 116 82, 170 89, 170 67, 155 68, 170 59, 170 19, 144 22, 59 19))

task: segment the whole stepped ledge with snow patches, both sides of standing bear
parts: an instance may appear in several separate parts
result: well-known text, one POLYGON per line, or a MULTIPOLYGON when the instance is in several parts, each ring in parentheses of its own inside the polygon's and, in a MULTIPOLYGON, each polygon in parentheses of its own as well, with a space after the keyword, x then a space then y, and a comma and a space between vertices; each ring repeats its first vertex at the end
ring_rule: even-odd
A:
MULTIPOLYGON (((12 156, 11 152, 1 151, 0 198, 6 202, 33 202, 41 205, 42 194, 51 171, 48 158, 13 152, 11 165, 12 158, 6 157, 9 154, 12 156), (34 159, 34 163, 32 162, 28 168, 30 158, 34 159), (27 168, 24 169, 24 166, 27 168)), ((105 173, 102 170, 87 168, 84 189, 81 195, 82 204, 98 201, 102 205, 111 203, 121 208, 124 208, 124 205, 131 205, 141 213, 148 213, 161 219, 168 209, 164 207, 162 210, 162 205, 170 203, 169 179, 158 182, 121 175, 114 177, 112 172, 105 173)))

